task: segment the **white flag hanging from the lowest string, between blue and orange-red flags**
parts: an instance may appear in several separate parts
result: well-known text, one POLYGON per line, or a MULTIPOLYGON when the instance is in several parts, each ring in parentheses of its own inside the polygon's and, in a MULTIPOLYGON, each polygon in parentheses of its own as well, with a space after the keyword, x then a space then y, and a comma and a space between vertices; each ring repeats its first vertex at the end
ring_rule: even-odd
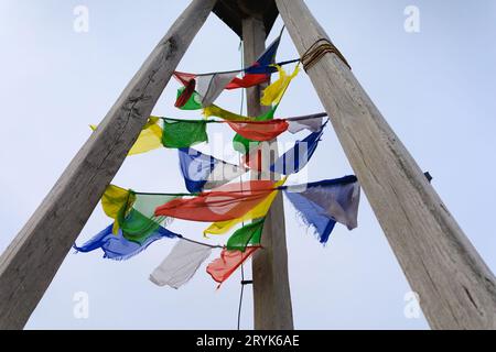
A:
POLYGON ((165 260, 151 273, 150 280, 158 286, 180 288, 212 254, 212 248, 180 240, 165 260))

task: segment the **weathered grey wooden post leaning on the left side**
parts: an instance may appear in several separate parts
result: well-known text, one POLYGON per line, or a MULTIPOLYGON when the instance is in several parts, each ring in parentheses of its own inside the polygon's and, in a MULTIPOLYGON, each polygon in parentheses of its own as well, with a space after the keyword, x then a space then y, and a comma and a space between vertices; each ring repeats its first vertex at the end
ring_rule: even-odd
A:
POLYGON ((215 3, 191 2, 0 257, 0 329, 24 327, 215 3))

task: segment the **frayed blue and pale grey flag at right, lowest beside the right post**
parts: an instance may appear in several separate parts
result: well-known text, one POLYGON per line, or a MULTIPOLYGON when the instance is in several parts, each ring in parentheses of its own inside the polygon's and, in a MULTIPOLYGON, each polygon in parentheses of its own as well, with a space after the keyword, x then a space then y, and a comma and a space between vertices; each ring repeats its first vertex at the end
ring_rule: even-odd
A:
POLYGON ((303 222, 313 228, 321 243, 326 243, 336 222, 348 230, 357 227, 360 188, 355 176, 302 186, 284 187, 303 222))

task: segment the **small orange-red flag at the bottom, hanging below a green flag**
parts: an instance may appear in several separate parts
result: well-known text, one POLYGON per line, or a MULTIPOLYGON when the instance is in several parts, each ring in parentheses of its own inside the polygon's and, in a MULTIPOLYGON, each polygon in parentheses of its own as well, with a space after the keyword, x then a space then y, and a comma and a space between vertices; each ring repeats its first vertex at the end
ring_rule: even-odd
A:
POLYGON ((216 280, 220 287, 229 276, 260 246, 249 246, 245 252, 223 250, 220 257, 208 264, 207 273, 216 280))

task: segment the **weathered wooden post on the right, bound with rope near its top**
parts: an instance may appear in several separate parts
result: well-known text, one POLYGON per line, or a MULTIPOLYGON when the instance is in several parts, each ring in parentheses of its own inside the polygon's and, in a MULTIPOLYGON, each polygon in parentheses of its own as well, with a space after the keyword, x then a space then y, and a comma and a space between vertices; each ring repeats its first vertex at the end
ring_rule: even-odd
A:
MULTIPOLYGON (((327 34, 302 0, 276 0, 303 55, 327 34)), ((343 148, 433 329, 496 329, 495 277, 348 67, 308 70, 343 148)))

